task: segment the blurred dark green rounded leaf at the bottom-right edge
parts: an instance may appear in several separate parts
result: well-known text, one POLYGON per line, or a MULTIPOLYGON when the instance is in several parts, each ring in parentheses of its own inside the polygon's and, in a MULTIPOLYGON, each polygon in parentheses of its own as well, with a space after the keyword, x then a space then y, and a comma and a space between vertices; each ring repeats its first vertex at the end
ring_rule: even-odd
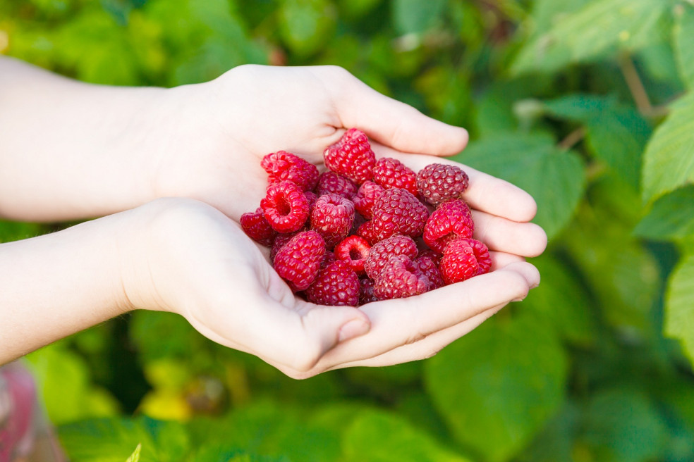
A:
POLYGON ((609 389, 593 395, 585 411, 583 440, 596 461, 663 460, 668 427, 639 390, 609 389))

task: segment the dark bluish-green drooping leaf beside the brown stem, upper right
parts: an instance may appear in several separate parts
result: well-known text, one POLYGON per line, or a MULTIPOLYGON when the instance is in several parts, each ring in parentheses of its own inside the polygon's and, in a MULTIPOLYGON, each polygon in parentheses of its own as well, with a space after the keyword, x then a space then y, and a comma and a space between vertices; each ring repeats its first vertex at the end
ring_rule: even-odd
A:
POLYGON ((590 151, 635 189, 641 175, 641 158, 651 129, 633 108, 616 99, 568 95, 545 103, 549 113, 584 123, 590 151))

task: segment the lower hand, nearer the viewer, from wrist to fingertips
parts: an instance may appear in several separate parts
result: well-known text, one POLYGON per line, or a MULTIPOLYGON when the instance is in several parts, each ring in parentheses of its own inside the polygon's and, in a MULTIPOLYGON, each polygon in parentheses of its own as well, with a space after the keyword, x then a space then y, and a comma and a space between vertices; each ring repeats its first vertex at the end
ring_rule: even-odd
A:
POLYGON ((179 313, 214 342, 290 377, 432 356, 540 281, 529 263, 492 252, 491 273, 421 296, 318 306, 296 297, 217 209, 163 199, 133 212, 142 231, 119 246, 128 249, 121 274, 130 304, 179 313))

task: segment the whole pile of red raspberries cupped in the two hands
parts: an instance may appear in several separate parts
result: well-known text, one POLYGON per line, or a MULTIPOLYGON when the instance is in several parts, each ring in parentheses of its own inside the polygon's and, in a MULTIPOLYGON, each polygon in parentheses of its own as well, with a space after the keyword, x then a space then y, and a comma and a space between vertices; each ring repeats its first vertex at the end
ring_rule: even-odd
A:
POLYGON ((320 305, 359 306, 423 294, 487 273, 487 246, 473 239, 461 199, 468 175, 432 163, 418 173, 379 158, 352 128, 324 151, 328 170, 294 154, 262 158, 267 194, 241 216, 245 233, 269 247, 295 294, 320 305))

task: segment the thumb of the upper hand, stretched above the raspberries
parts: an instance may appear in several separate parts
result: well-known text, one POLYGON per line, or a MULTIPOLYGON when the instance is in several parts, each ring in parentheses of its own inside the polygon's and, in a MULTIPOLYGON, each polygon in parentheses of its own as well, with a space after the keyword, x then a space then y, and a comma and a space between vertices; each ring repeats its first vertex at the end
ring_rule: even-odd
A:
POLYGON ((468 144, 468 131, 425 116, 412 106, 380 94, 340 68, 322 68, 343 127, 403 152, 450 156, 468 144), (329 75, 325 75, 325 73, 329 75))

